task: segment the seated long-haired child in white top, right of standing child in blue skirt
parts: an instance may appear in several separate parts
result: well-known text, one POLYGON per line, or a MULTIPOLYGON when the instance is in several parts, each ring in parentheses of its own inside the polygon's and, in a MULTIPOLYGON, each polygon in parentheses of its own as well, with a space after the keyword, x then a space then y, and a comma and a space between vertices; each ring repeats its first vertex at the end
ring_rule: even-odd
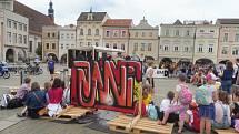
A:
POLYGON ((219 100, 215 103, 215 121, 212 125, 216 128, 229 128, 231 125, 230 106, 228 93, 220 91, 219 100))

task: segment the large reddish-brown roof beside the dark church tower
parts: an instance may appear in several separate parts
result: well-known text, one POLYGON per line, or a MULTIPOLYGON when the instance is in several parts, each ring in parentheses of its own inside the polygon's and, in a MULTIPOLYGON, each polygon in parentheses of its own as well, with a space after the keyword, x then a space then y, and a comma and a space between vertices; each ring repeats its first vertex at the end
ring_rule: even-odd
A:
POLYGON ((29 33, 41 35, 43 25, 54 25, 54 22, 46 14, 36 11, 14 0, 13 12, 29 19, 29 33))

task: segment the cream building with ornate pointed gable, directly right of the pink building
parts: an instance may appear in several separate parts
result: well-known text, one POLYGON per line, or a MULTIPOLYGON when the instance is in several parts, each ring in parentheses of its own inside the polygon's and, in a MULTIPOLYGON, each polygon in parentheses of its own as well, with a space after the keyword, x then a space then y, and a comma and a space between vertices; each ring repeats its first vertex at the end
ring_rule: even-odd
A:
POLYGON ((129 29, 130 40, 128 52, 130 55, 138 55, 140 59, 158 59, 159 27, 152 27, 143 19, 138 25, 129 29))

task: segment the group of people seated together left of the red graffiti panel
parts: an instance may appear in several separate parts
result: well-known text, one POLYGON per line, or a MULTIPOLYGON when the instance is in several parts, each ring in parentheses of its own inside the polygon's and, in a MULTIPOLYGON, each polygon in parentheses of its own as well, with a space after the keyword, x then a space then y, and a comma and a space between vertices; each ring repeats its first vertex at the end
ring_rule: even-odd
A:
POLYGON ((70 104, 70 90, 63 81, 56 78, 52 82, 46 82, 41 89, 38 82, 26 78, 24 83, 17 90, 17 94, 9 100, 8 107, 14 109, 24 106, 18 116, 38 118, 41 113, 53 117, 70 104))

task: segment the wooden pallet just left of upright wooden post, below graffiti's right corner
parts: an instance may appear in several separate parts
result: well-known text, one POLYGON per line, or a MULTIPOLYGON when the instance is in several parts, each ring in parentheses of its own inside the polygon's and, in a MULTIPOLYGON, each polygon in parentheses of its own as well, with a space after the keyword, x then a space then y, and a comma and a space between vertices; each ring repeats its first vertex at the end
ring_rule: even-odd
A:
POLYGON ((130 133, 132 121, 133 117, 119 115, 117 118, 108 122, 107 124, 109 125, 110 131, 130 133))

